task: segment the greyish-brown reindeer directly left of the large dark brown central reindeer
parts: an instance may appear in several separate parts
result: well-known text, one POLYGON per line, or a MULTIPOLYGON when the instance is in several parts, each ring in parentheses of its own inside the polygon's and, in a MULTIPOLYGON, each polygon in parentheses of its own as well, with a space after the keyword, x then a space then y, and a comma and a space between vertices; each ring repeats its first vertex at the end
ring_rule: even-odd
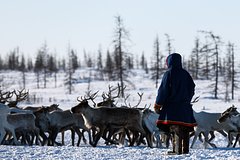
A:
POLYGON ((43 137, 43 145, 49 140, 49 145, 63 145, 64 144, 64 131, 70 129, 72 131, 72 145, 74 145, 74 133, 79 136, 78 146, 83 136, 80 132, 81 129, 87 130, 83 125, 81 115, 72 114, 69 110, 65 111, 52 111, 49 112, 48 108, 42 107, 34 112, 37 117, 36 124, 40 128, 40 135, 43 137), (47 137, 44 132, 49 133, 47 137), (62 144, 56 142, 56 137, 59 132, 62 132, 62 144))

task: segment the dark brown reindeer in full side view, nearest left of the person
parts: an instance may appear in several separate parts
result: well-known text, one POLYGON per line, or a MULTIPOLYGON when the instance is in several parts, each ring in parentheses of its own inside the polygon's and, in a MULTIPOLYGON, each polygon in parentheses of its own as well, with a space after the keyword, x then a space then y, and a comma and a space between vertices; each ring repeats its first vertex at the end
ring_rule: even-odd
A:
MULTIPOLYGON (((89 128, 97 128, 99 132, 94 137, 92 146, 96 147, 99 139, 103 136, 106 128, 109 126, 115 128, 124 128, 129 130, 135 130, 142 134, 146 134, 142 126, 142 112, 134 108, 92 108, 88 104, 88 99, 77 99, 80 103, 71 108, 73 113, 81 113, 85 125, 89 128)), ((147 137, 147 141, 150 147, 150 137, 147 137)))

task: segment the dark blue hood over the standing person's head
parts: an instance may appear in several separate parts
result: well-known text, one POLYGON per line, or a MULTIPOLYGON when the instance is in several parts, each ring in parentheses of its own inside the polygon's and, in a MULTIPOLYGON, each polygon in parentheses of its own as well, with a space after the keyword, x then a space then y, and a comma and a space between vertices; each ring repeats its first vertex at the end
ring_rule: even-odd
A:
POLYGON ((182 68, 182 56, 178 53, 172 53, 167 57, 168 68, 182 68))

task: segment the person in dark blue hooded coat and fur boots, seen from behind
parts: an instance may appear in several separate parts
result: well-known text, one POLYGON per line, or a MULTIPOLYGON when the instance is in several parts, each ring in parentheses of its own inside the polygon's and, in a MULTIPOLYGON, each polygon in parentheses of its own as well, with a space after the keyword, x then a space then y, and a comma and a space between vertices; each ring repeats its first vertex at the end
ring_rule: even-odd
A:
POLYGON ((182 57, 170 54, 158 89, 154 110, 159 114, 157 126, 173 135, 173 151, 169 154, 189 153, 189 132, 196 126, 191 100, 195 84, 190 74, 182 68, 182 57))

